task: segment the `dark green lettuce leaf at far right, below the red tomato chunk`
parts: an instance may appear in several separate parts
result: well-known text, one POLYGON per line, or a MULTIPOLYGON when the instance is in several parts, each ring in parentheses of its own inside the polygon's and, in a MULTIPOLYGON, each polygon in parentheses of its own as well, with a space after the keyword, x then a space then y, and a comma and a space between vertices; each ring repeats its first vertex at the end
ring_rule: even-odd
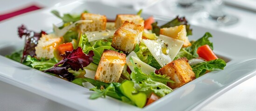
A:
POLYGON ((206 73, 207 70, 213 71, 217 69, 224 69, 226 62, 222 59, 215 59, 208 62, 201 62, 195 65, 192 65, 191 68, 195 74, 195 78, 198 78, 206 73))

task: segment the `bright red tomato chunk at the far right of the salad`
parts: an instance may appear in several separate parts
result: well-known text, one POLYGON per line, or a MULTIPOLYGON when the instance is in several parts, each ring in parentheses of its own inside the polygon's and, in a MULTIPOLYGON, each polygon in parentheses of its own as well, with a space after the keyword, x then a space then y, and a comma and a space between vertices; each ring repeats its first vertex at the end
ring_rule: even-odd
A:
POLYGON ((199 47, 196 53, 198 54, 198 56, 202 57, 206 61, 218 59, 218 57, 214 54, 213 50, 207 44, 199 47))

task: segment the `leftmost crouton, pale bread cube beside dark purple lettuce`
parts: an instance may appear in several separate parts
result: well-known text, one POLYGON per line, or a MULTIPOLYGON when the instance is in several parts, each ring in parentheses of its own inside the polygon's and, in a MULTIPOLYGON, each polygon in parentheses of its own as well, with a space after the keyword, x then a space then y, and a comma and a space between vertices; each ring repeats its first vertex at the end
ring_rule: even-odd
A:
POLYGON ((54 34, 42 35, 35 47, 36 58, 53 58, 54 49, 61 43, 63 43, 62 37, 56 37, 54 34))

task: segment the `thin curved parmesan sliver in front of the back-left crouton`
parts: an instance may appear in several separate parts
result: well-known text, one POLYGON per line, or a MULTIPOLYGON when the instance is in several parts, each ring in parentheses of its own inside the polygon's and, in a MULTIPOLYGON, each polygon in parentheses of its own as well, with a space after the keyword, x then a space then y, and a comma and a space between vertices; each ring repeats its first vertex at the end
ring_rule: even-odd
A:
POLYGON ((76 21, 75 23, 71 24, 71 25, 68 25, 68 26, 65 26, 64 28, 62 29, 59 29, 56 25, 53 25, 53 29, 54 29, 54 32, 55 32, 55 35, 57 37, 62 37, 64 36, 71 28, 75 27, 76 24, 82 24, 82 23, 86 23, 86 22, 92 22, 92 20, 78 20, 76 21))

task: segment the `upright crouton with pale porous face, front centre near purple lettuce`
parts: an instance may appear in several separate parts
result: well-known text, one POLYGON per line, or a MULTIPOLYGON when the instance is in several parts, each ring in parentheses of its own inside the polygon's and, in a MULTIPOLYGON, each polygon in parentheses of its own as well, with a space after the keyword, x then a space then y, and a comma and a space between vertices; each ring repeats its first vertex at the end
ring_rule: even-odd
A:
POLYGON ((118 82, 125 63, 125 54, 113 50, 104 50, 94 79, 107 83, 118 82))

